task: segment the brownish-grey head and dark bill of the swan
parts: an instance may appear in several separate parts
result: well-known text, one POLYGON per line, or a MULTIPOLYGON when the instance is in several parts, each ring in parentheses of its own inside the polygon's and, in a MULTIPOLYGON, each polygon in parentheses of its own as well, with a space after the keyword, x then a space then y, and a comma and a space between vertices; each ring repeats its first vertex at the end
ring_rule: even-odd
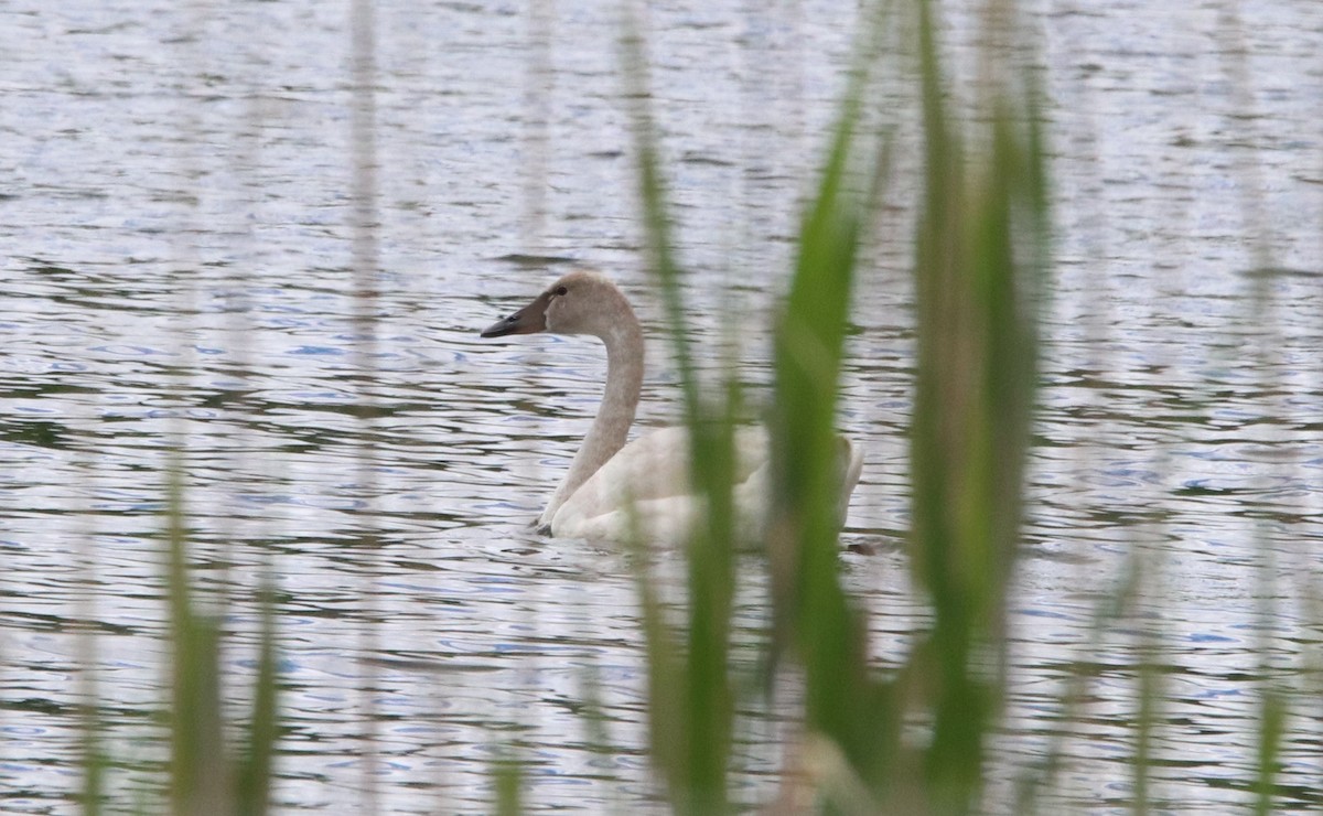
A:
POLYGON ((487 327, 483 337, 507 335, 594 335, 606 339, 624 324, 635 324, 634 311, 615 284, 597 272, 565 275, 517 312, 487 327))

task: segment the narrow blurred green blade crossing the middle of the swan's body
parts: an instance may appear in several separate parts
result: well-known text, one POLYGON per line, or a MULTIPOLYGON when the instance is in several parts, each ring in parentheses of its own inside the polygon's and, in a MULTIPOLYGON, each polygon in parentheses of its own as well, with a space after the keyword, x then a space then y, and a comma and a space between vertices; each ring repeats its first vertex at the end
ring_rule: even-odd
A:
POLYGON ((634 7, 626 5, 623 69, 639 167, 648 270, 659 283, 668 335, 680 369, 689 431, 691 484, 705 512, 685 548, 688 615, 683 631, 668 626, 663 600, 648 578, 647 555, 635 551, 636 583, 648 645, 648 727, 652 759, 681 813, 729 811, 734 690, 729 677, 730 607, 734 596, 734 386, 716 407, 700 395, 689 325, 675 258, 665 180, 648 106, 647 57, 634 7))

